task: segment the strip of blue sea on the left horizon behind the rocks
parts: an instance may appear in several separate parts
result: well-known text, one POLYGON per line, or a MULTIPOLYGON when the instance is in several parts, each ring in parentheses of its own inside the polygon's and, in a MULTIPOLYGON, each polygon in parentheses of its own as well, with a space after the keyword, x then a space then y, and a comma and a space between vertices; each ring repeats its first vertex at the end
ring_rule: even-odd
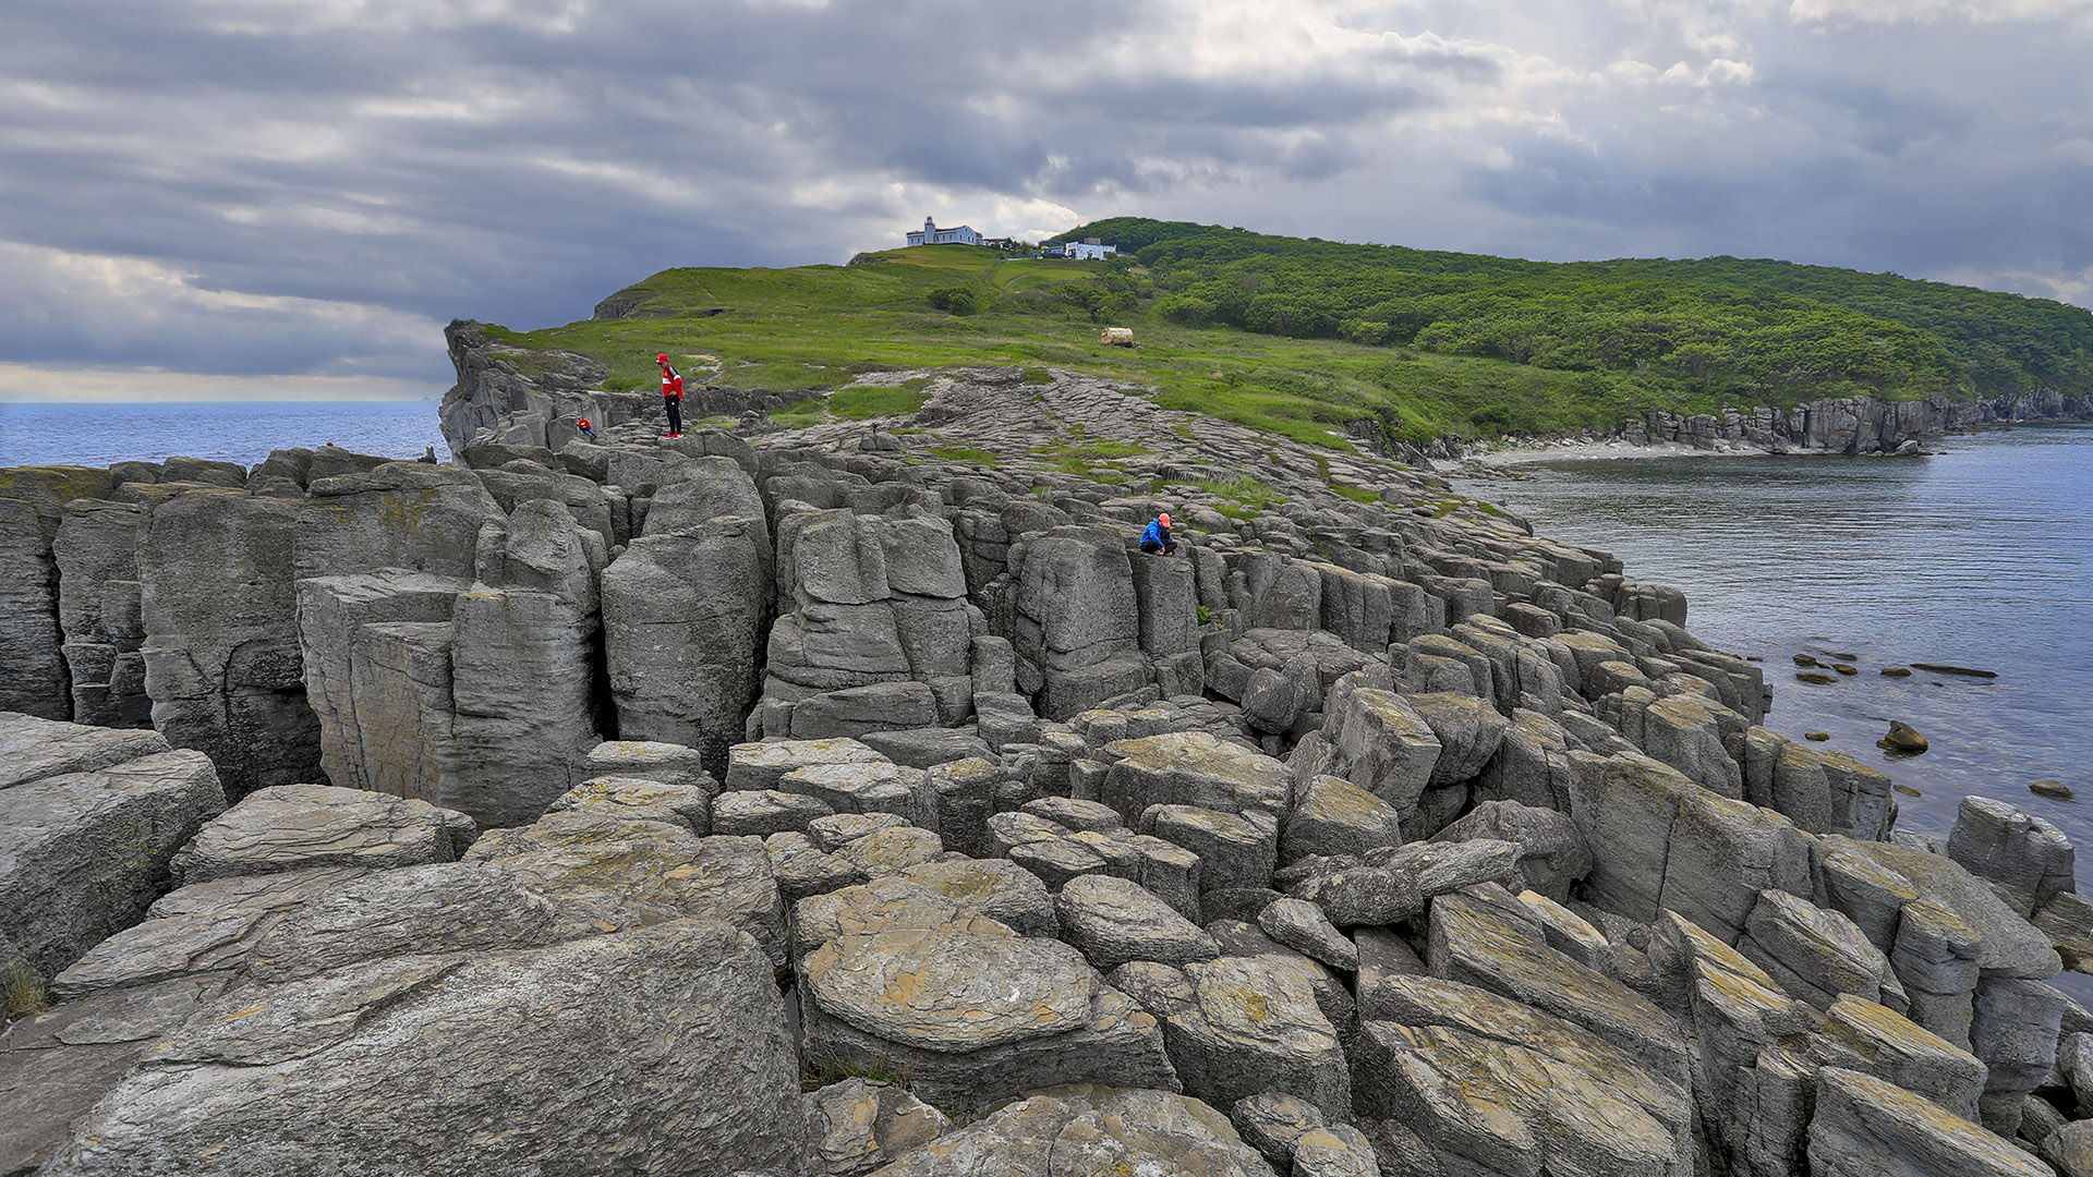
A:
POLYGON ((0 465, 190 459, 255 465, 270 450, 333 442, 360 454, 448 461, 433 400, 0 402, 0 465))

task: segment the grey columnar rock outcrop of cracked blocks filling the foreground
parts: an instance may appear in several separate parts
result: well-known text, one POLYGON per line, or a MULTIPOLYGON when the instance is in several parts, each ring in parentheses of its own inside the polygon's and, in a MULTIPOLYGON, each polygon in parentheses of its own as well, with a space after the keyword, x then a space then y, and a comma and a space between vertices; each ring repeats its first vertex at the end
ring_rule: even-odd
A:
POLYGON ((0 1173, 2093 1173, 2070 842, 1603 551, 1072 373, 454 356, 460 465, 0 471, 0 1173))

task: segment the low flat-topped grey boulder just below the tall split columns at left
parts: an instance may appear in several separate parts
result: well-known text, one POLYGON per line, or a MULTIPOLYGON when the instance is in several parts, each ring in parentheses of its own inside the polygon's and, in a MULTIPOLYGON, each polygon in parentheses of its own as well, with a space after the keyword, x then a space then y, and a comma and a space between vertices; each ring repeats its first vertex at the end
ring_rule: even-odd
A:
POLYGON ((473 819, 421 800, 335 785, 276 785, 211 819, 174 854, 176 884, 306 867, 391 869, 450 863, 473 819))

